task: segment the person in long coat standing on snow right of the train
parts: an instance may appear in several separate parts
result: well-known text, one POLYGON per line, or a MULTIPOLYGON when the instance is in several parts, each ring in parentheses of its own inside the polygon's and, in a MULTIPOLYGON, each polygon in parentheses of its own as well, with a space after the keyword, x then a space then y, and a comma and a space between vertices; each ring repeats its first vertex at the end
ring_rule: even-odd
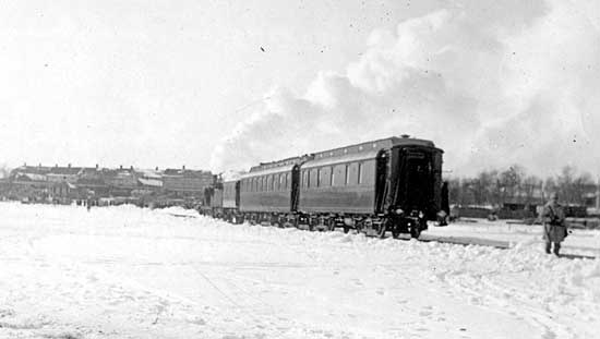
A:
POLYGON ((552 193, 550 201, 543 206, 543 240, 545 241, 545 253, 550 254, 552 243, 554 243, 554 254, 559 255, 561 242, 566 237, 565 213, 563 206, 559 204, 559 194, 552 193))

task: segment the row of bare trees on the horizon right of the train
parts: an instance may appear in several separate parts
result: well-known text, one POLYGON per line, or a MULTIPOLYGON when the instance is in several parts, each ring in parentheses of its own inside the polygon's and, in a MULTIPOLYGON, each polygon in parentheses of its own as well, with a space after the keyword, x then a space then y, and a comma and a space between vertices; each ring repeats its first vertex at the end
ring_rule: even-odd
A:
POLYGON ((551 192, 564 204, 585 204, 596 193, 596 180, 588 172, 566 166, 555 177, 542 179, 515 165, 506 170, 482 171, 475 178, 448 179, 451 204, 502 206, 505 203, 540 204, 551 192))

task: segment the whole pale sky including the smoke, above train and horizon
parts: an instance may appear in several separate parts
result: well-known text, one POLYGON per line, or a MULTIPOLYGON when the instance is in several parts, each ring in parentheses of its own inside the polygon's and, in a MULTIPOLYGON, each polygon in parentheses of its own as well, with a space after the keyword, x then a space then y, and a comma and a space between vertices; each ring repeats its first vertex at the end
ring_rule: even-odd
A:
POLYGON ((0 164, 244 169, 410 134, 600 173, 598 1, 0 1, 0 164))

